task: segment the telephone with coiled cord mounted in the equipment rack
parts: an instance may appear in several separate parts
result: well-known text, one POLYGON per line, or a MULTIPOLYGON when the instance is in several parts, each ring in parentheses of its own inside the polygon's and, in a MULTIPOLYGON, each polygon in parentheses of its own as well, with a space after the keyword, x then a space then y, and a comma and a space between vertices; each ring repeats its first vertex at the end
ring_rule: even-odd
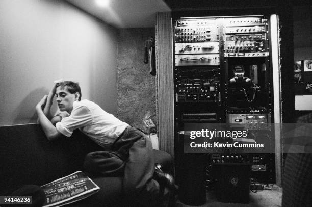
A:
POLYGON ((232 67, 232 71, 235 75, 229 80, 230 85, 236 88, 243 88, 246 100, 251 103, 255 99, 256 89, 259 88, 249 77, 245 77, 245 70, 242 65, 235 65, 232 67), (250 100, 247 96, 246 87, 253 88, 253 97, 250 100))

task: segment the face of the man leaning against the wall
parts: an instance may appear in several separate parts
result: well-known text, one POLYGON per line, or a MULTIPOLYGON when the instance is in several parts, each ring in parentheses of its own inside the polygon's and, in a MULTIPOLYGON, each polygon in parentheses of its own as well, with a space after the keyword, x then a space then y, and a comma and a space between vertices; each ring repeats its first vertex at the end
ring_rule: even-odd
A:
POLYGON ((74 93, 70 93, 67 90, 67 87, 63 87, 61 88, 60 86, 57 88, 56 90, 56 97, 57 97, 57 102, 58 102, 58 106, 60 111, 66 111, 68 113, 71 113, 72 109, 73 109, 73 102, 75 101, 75 94, 74 93))

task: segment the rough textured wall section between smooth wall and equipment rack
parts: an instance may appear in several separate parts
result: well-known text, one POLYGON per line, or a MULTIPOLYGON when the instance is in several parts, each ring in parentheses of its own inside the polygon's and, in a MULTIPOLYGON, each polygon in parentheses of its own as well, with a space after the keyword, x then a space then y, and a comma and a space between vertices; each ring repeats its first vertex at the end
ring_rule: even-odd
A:
POLYGON ((155 123, 155 76, 144 64, 144 44, 154 28, 120 29, 117 42, 117 116, 143 128, 147 111, 155 123))

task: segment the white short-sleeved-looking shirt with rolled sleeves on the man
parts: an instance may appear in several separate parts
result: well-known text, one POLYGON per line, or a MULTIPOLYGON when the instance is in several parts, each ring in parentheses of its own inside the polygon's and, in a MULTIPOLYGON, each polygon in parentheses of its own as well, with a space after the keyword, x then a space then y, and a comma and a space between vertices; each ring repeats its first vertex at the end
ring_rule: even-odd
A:
POLYGON ((68 117, 56 124, 57 130, 70 137, 79 128, 102 147, 110 147, 129 124, 102 110, 94 102, 84 99, 73 102, 73 110, 68 117))

